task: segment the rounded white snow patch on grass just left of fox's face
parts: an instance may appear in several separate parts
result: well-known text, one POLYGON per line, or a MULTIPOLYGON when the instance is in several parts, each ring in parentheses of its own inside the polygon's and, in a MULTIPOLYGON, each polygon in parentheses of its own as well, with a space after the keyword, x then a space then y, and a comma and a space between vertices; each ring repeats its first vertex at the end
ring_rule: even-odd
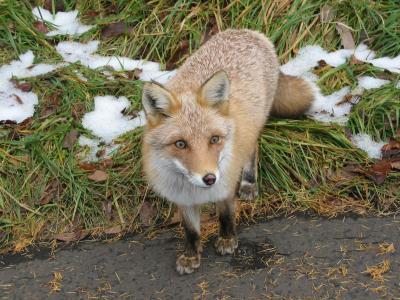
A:
POLYGON ((83 116, 82 125, 106 143, 146 123, 144 112, 134 119, 122 114, 130 105, 126 97, 97 96, 94 101, 95 109, 83 116))

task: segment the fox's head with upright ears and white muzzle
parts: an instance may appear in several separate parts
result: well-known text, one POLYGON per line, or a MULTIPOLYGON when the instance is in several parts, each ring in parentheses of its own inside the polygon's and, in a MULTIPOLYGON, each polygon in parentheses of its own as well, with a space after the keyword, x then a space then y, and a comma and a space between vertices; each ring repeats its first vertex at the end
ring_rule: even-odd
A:
POLYGON ((151 153, 144 155, 151 157, 150 169, 159 180, 175 176, 210 188, 224 176, 233 136, 229 85, 224 71, 200 87, 180 92, 155 82, 145 84, 142 103, 148 125, 144 142, 151 153))

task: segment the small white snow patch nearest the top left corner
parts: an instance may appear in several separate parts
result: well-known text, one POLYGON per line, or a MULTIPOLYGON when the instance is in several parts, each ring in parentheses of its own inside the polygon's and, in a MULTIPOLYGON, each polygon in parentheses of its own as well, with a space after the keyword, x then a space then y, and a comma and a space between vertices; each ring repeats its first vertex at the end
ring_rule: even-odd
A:
POLYGON ((48 32, 47 36, 74 35, 79 36, 90 30, 92 25, 84 25, 78 19, 78 11, 57 12, 55 16, 50 11, 40 6, 32 10, 32 14, 38 19, 52 23, 55 30, 48 32))

